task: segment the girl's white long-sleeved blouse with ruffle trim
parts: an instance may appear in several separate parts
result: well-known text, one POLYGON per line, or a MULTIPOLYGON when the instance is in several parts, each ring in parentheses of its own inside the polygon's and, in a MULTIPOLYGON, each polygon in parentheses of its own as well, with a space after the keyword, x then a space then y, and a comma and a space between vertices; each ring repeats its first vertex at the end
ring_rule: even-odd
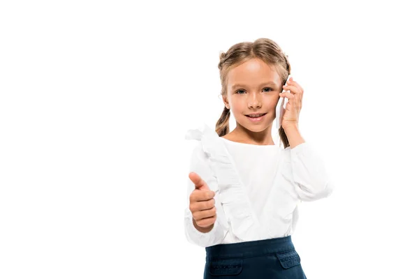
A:
POLYGON ((188 179, 185 234, 198 246, 291 235, 299 202, 328 197, 334 188, 321 156, 307 142, 293 149, 232 142, 207 125, 188 130, 186 140, 199 141, 190 172, 200 175, 216 193, 214 227, 199 232, 189 210, 195 186, 188 179))

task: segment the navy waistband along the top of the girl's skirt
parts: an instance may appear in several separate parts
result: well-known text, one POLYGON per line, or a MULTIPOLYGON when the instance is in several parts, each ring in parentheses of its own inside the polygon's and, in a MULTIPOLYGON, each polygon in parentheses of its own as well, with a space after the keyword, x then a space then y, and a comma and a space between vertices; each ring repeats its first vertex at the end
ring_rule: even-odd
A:
POLYGON ((295 250, 291 235, 275 239, 263 239, 258 241, 244 241, 239 243, 217 244, 206 247, 206 260, 260 257, 278 252, 295 250))

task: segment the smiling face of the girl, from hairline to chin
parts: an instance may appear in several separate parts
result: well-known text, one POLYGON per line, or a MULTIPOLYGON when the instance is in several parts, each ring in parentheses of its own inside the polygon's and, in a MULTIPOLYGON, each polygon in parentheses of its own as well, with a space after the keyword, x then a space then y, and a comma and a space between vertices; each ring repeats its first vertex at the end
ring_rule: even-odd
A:
POLYGON ((237 126, 240 124, 253 132, 272 128, 279 86, 281 78, 277 71, 260 59, 251 59, 231 69, 227 78, 227 100, 224 101, 237 126), (260 121, 251 121, 247 114, 252 113, 265 113, 265 116, 260 121))

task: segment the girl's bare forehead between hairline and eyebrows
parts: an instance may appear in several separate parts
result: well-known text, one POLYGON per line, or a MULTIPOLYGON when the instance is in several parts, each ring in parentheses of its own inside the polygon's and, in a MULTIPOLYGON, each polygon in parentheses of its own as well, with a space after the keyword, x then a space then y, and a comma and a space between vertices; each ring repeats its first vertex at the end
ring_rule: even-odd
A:
POLYGON ((234 84, 259 84, 261 82, 274 82, 279 84, 280 77, 277 71, 260 59, 251 59, 228 72, 228 86, 234 84))

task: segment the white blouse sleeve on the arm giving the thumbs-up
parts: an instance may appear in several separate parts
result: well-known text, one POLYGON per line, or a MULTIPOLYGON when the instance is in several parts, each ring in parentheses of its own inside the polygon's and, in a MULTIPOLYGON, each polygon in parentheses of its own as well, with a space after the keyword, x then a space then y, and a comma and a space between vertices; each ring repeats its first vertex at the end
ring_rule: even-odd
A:
POLYGON ((192 191, 195 189, 195 185, 193 185, 192 181, 188 178, 188 187, 187 187, 187 206, 184 212, 184 229, 186 239, 198 246, 207 247, 207 246, 214 246, 216 244, 222 243, 223 238, 225 236, 223 227, 219 223, 220 220, 218 218, 220 211, 222 211, 221 203, 219 202, 218 197, 218 184, 216 181, 216 177, 212 175, 210 166, 208 165, 207 156, 203 151, 202 144, 198 142, 198 145, 195 149, 193 149, 191 155, 191 165, 189 167, 190 172, 196 172, 210 187, 211 190, 216 192, 214 197, 215 199, 215 206, 217 211, 217 219, 214 223, 214 227, 210 232, 203 233, 199 232, 193 226, 193 218, 192 213, 189 210, 189 195, 191 195, 192 191))

